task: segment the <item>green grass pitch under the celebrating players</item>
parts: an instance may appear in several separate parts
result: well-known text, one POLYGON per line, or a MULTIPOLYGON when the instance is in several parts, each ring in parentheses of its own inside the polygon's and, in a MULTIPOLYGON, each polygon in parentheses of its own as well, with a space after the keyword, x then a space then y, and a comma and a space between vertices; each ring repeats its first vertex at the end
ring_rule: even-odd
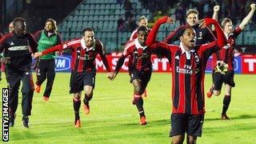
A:
MULTIPOLYGON (((34 94, 28 130, 22 127, 19 93, 17 118, 14 127, 10 128, 10 143, 170 143, 170 73, 152 74, 147 87, 149 94, 144 98, 146 126, 138 124, 137 109, 131 104, 133 86, 128 74, 120 73, 114 82, 110 82, 106 73, 98 73, 90 114, 83 114, 81 108, 82 127, 74 128, 69 79, 70 73, 56 75, 50 102, 42 102, 46 83, 42 85, 41 94, 34 94)), ((234 79, 236 87, 232 90, 227 112, 230 121, 220 120, 223 93, 206 98, 203 133, 198 143, 256 142, 256 74, 236 74, 234 79)), ((210 74, 206 74, 205 91, 210 85, 210 74)), ((5 80, 0 86, 6 86, 5 80)))

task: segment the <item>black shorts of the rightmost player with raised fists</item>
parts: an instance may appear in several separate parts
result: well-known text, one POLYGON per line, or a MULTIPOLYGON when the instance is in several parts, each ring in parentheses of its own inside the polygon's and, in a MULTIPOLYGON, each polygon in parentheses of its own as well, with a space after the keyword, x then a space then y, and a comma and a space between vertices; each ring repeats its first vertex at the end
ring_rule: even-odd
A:
POLYGON ((222 90, 223 82, 231 87, 235 86, 234 70, 228 70, 226 74, 221 74, 220 72, 214 73, 214 90, 222 90))

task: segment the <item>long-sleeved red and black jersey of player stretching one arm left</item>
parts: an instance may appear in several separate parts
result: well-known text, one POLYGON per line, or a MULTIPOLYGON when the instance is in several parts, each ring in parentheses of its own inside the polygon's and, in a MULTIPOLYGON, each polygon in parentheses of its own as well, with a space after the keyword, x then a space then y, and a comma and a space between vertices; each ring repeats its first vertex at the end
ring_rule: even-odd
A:
POLYGON ((76 39, 69 42, 64 42, 61 45, 53 46, 50 49, 42 51, 42 54, 49 54, 57 50, 71 49, 71 69, 82 72, 84 70, 96 69, 95 58, 97 54, 102 58, 103 64, 106 66, 106 70, 110 72, 110 66, 106 59, 105 50, 102 42, 98 39, 94 40, 94 44, 91 47, 86 46, 84 39, 76 39))

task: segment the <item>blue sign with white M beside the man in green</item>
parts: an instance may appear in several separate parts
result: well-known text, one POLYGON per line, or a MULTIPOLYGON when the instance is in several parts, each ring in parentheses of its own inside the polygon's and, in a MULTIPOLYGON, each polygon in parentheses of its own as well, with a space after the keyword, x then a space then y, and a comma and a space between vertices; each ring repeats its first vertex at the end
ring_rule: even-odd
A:
POLYGON ((70 58, 57 57, 55 59, 55 66, 56 71, 70 70, 70 58))

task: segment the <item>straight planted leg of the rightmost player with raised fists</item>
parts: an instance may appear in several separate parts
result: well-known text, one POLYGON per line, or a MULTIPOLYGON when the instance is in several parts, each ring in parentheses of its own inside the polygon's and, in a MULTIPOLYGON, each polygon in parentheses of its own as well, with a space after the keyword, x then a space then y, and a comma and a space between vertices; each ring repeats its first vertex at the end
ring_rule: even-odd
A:
POLYGON ((223 98, 223 106, 222 106, 222 119, 223 120, 229 120, 230 118, 226 115, 226 110, 230 106, 231 101, 231 86, 226 84, 225 85, 225 97, 223 98))

